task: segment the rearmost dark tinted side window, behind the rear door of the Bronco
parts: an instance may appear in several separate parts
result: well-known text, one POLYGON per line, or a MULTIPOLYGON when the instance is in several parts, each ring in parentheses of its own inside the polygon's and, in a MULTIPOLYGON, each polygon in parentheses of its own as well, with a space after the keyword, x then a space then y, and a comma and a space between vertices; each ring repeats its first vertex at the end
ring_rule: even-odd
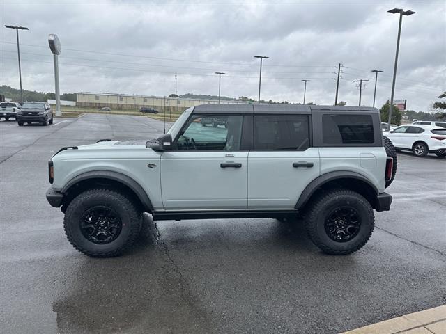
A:
POLYGON ((374 125, 370 115, 323 115, 325 144, 372 144, 374 125))

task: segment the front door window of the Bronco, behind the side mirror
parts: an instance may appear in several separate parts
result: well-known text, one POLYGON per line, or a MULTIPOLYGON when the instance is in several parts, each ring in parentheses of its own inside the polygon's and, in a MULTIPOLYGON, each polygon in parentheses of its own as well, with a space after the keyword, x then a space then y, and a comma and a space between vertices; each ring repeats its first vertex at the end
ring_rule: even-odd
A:
POLYGON ((174 144, 176 150, 240 150, 243 116, 192 115, 174 144))

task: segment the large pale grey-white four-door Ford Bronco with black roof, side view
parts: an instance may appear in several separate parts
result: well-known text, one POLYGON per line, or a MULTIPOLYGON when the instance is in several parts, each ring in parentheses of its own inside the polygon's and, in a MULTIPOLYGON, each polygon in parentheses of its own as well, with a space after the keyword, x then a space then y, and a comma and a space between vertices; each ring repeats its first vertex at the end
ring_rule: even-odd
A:
POLYGON ((98 141, 49 160, 47 200, 70 243, 94 257, 123 253, 153 220, 302 216, 314 244, 353 253, 390 209, 397 156, 378 109, 206 104, 152 141, 98 141), (217 126, 203 126, 218 119, 217 126))

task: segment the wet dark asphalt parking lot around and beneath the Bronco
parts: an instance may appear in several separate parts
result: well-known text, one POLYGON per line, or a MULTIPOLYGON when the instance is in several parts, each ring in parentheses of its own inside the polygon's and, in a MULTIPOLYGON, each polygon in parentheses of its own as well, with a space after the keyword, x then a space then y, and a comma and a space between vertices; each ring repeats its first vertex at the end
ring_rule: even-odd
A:
POLYGON ((3 333, 337 333, 446 303, 446 159, 430 155, 399 154, 392 209, 353 255, 324 255, 274 219, 161 221, 157 241, 121 257, 77 253, 45 199, 49 157, 162 129, 140 116, 1 120, 3 333))

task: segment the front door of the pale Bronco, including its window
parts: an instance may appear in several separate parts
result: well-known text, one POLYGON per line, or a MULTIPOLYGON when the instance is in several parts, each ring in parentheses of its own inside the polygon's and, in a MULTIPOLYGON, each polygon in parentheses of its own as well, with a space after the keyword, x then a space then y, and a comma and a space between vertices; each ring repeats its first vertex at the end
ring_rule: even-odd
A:
POLYGON ((243 116, 197 115, 162 153, 162 202, 167 210, 246 209, 247 151, 240 151, 243 116))

